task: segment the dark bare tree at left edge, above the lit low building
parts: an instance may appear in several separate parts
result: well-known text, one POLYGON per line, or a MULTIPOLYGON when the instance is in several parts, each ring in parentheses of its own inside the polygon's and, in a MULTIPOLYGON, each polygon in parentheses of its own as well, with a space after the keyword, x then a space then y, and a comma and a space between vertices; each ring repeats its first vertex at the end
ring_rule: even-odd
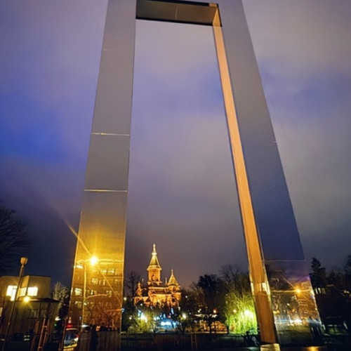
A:
POLYGON ((0 201, 0 275, 11 273, 28 251, 26 221, 15 216, 15 211, 0 201))

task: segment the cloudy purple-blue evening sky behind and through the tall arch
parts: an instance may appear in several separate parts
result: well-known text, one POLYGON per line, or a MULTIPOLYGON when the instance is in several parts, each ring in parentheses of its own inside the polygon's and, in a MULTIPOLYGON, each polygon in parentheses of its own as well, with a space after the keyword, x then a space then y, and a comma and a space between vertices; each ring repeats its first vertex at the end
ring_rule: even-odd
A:
MULTIPOLYGON (((0 3, 0 199, 70 284, 106 0, 0 3)), ((244 0, 306 260, 351 254, 351 2, 244 0)), ((138 21, 127 272, 246 270, 211 28, 138 21)), ((239 48, 238 48, 239 49, 239 48)), ((254 140, 253 140, 254 142, 254 140)))

